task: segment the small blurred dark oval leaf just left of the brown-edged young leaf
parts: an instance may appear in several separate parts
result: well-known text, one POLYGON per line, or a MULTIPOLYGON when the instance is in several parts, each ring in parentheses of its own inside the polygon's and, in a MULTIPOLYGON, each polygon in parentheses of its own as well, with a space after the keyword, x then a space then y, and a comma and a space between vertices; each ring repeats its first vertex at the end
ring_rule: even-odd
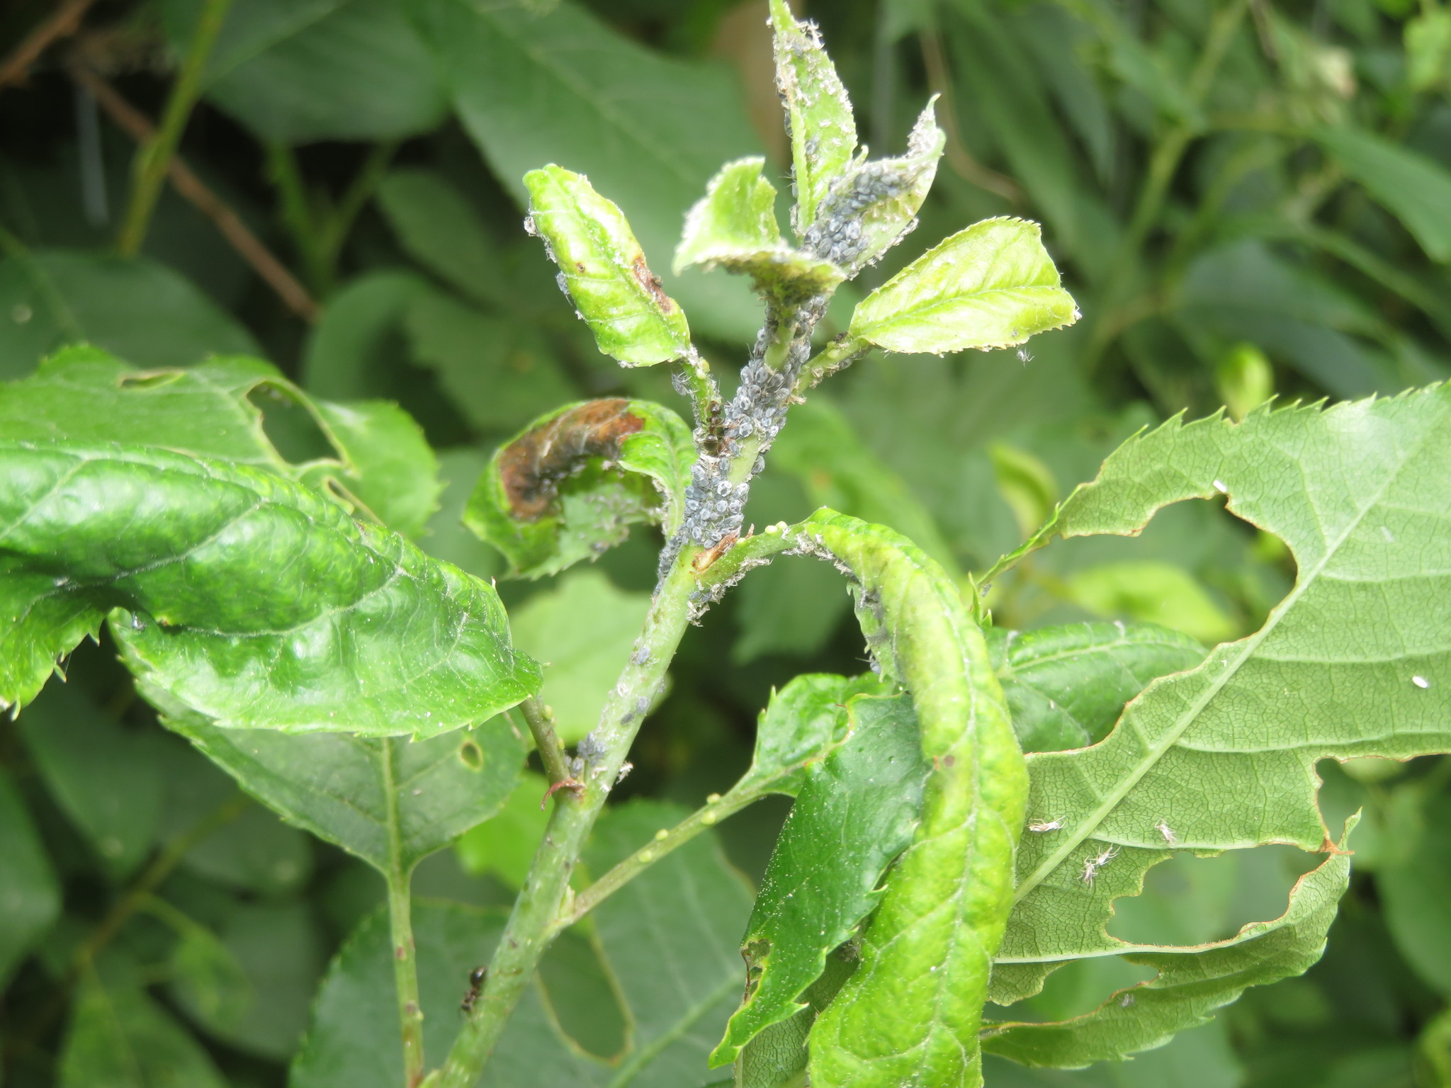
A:
POLYGON ((443 174, 395 170, 379 184, 377 203, 411 257, 474 302, 508 305, 501 247, 443 174))

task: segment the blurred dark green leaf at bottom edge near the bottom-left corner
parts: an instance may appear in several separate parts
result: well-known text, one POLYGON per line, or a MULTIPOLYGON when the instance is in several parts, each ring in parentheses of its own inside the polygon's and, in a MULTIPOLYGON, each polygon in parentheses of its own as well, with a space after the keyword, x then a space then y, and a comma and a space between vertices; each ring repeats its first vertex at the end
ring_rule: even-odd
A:
POLYGON ((226 1088, 210 1056, 139 988, 80 988, 61 1053, 59 1088, 226 1088))

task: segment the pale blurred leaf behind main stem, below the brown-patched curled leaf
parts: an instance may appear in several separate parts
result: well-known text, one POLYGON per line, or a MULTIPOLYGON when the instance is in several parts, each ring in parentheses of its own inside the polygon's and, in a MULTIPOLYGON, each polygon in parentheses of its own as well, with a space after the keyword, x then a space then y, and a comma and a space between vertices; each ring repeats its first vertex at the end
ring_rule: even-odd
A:
POLYGON ((514 641, 544 663, 540 699, 554 708, 560 740, 573 744, 595 728, 649 611, 647 595, 615 589, 598 570, 566 574, 515 611, 514 641))

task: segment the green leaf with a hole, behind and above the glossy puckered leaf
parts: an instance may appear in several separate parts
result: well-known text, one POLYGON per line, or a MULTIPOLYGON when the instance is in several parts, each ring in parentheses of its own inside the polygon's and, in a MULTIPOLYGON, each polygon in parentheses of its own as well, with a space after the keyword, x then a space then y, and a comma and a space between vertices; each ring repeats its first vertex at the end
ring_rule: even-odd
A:
POLYGON ((303 393, 270 363, 209 358, 193 367, 138 370, 96 348, 67 348, 19 382, 0 384, 0 435, 154 445, 268 469, 340 495, 348 508, 412 535, 438 498, 438 461, 418 424, 385 400, 332 403, 303 393), (334 457, 292 464, 257 403, 311 416, 334 457))

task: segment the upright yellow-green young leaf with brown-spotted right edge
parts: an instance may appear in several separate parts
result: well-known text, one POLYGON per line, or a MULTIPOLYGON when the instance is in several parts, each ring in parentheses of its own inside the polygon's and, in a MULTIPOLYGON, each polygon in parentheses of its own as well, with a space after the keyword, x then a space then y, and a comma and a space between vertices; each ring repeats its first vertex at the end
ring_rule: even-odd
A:
POLYGON ((599 196, 583 174, 556 165, 524 176, 530 234, 548 247, 559 286, 595 344, 627 367, 669 363, 691 350, 679 303, 660 287, 618 205, 599 196))

